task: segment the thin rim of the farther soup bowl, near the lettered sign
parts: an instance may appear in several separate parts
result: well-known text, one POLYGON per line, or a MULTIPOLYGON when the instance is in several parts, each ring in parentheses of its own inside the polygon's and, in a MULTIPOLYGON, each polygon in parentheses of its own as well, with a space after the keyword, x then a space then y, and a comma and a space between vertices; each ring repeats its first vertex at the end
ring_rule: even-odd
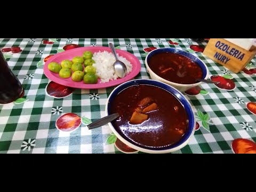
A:
MULTIPOLYGON (((194 87, 194 86, 198 86, 198 85, 202 84, 202 82, 193 83, 193 84, 179 84, 179 83, 174 83, 174 82, 168 81, 168 80, 166 80, 166 79, 164 79, 164 78, 158 76, 156 73, 154 73, 154 71, 153 71, 152 69, 150 69, 150 67, 148 66, 147 60, 148 60, 148 56, 149 56, 151 53, 153 53, 154 51, 157 51, 157 50, 159 50, 159 49, 172 49, 172 50, 178 50, 178 51, 181 51, 181 52, 186 52, 186 51, 179 50, 179 49, 176 49, 176 48, 173 48, 173 47, 159 47, 159 48, 157 48, 157 49, 155 49, 155 50, 153 50, 153 51, 150 51, 150 52, 147 54, 146 58, 145 58, 145 65, 146 65, 146 67, 147 67, 147 69, 148 69, 149 74, 152 73, 152 74, 154 74, 155 76, 157 76, 157 78, 159 79, 159 81, 165 82, 165 83, 170 83, 170 84, 173 84, 174 86, 182 86, 182 87, 193 86, 193 87, 194 87)), ((190 54, 190 55, 193 55, 193 54, 191 54, 191 53, 189 53, 189 52, 186 52, 186 53, 188 53, 188 54, 190 54)), ((184 56, 185 56, 185 55, 184 55, 184 56)), ((198 57, 195 56, 195 55, 193 55, 193 56, 196 57, 198 60, 200 60, 200 61, 203 63, 203 65, 204 65, 204 67, 205 67, 205 69, 206 69, 206 75, 205 75, 205 78, 204 78, 204 79, 207 79, 207 78, 209 77, 209 69, 208 69, 208 67, 206 66, 206 64, 205 64, 200 58, 198 58, 198 57)), ((185 57, 186 57, 186 56, 185 56, 185 57)))

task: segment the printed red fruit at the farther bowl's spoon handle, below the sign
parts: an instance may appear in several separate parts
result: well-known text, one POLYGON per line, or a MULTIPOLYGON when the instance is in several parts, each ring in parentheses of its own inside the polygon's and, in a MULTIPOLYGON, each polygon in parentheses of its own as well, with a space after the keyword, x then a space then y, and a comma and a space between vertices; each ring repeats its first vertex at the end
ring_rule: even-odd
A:
POLYGON ((232 78, 229 75, 219 76, 219 75, 213 75, 210 77, 212 81, 218 81, 220 83, 214 84, 215 86, 219 87, 223 90, 234 90, 236 88, 236 84, 230 79, 232 78))

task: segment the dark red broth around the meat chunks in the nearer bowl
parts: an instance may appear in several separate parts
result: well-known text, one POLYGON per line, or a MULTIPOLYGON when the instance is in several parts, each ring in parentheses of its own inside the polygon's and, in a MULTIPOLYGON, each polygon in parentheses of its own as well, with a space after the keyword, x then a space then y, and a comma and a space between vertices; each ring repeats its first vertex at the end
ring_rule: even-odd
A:
POLYGON ((120 117, 112 122, 113 126, 122 137, 140 147, 171 146, 183 137, 188 127, 188 115, 181 102, 170 92, 152 85, 134 85, 118 93, 110 105, 110 113, 117 112, 120 117), (148 116, 146 121, 131 123, 145 98, 150 98, 157 109, 142 114, 148 116))

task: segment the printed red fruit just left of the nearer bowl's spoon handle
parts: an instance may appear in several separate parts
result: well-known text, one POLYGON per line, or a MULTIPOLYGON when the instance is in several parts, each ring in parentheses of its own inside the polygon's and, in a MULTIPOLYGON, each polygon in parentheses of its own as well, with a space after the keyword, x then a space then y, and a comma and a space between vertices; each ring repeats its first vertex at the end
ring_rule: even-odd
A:
POLYGON ((74 113, 61 115, 56 121, 56 128, 61 131, 74 131, 81 125, 81 118, 74 113))

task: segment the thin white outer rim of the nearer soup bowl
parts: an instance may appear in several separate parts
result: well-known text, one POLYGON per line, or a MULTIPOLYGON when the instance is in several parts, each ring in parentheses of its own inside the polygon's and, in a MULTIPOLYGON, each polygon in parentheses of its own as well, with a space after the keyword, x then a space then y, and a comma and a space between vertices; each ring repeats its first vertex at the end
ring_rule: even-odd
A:
POLYGON ((177 151, 183 147, 185 147, 190 138, 194 135, 195 133, 195 127, 196 127, 196 118, 195 118, 195 114, 194 114, 194 111, 193 111, 193 108, 191 106, 191 103, 189 102, 189 100, 185 97, 184 94, 182 94, 178 89, 176 89, 175 87, 167 84, 167 83, 163 83, 163 82, 159 82, 159 81, 156 81, 156 80, 153 80, 153 79, 133 79, 133 80, 130 80, 130 81, 127 81, 125 83, 122 83, 121 85, 118 85, 117 87, 115 87, 115 89, 113 91, 111 91, 111 93, 109 94, 109 97, 107 99, 107 102, 106 102, 106 107, 105 107, 105 113, 106 113, 106 116, 108 115, 108 106, 109 106, 109 99, 110 97, 113 95, 113 93, 115 92, 115 90, 117 90, 120 86, 123 86, 124 84, 126 83, 130 83, 130 82, 133 82, 133 81, 141 81, 141 80, 144 80, 144 81, 149 81, 149 82, 157 82, 157 83, 160 83, 160 84, 164 84, 166 86, 169 86, 171 87, 171 89, 174 89, 175 91, 177 91, 183 98, 185 98, 185 100, 187 101, 191 111, 192 111, 192 114, 193 116, 191 118, 194 119, 194 125, 193 125, 193 130, 191 131, 190 135, 188 135, 188 138, 183 141, 179 146, 176 146, 174 148, 171 148, 171 149, 164 149, 164 150, 152 150, 152 149, 145 149, 145 148, 142 148, 142 147, 139 147, 139 146, 136 146, 136 145, 133 145, 133 143, 127 141, 125 138, 123 138, 117 131, 116 129, 114 128, 114 126, 112 125, 111 122, 108 123, 111 131, 113 131, 113 133, 116 135, 116 137, 121 140, 123 143, 125 143, 125 145, 127 146, 130 146, 131 148, 133 149, 136 149, 138 151, 141 151, 141 152, 144 152, 144 153, 151 153, 151 154, 163 154, 163 153, 172 153, 174 151, 177 151))

